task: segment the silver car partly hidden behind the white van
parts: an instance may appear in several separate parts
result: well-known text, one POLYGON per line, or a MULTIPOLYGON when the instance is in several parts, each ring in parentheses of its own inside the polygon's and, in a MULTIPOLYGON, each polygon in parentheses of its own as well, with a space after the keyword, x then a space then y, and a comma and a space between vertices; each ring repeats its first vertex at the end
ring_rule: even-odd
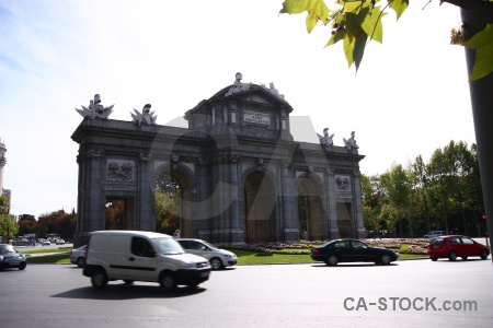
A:
POLYGON ((238 258, 234 253, 220 249, 205 241, 179 238, 176 242, 182 245, 186 253, 205 257, 210 262, 213 270, 219 270, 225 267, 232 267, 237 265, 238 258))

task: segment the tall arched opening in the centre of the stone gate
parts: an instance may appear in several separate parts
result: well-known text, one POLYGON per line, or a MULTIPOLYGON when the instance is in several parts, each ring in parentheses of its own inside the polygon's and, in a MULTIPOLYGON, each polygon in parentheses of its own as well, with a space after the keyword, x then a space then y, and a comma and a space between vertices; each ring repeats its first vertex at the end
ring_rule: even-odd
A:
POLYGON ((246 243, 275 242, 276 188, 265 173, 249 174, 243 184, 246 243))

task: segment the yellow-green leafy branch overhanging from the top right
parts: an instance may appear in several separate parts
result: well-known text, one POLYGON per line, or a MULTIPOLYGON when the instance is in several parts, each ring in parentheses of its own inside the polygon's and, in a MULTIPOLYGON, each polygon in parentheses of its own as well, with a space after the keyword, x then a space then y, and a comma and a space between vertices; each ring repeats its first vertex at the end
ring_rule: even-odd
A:
MULTIPOLYGON (((458 0, 444 0, 457 4, 458 0)), ((489 2, 493 0, 465 0, 489 2)), ((318 22, 331 26, 331 37, 325 47, 337 42, 343 42, 343 49, 348 66, 353 63, 356 70, 363 60, 365 47, 369 40, 383 42, 383 26, 381 19, 387 14, 385 10, 390 8, 397 14, 397 19, 409 7, 409 0, 387 0, 381 8, 379 0, 335 0, 335 8, 330 9, 324 0, 285 0, 280 13, 300 14, 307 12, 307 32, 311 33, 318 22)), ((484 3, 483 3, 484 4, 484 3)), ((473 68, 471 80, 488 75, 493 71, 493 26, 488 25, 484 31, 479 32, 471 40, 465 43, 466 47, 477 49, 477 63, 473 68)))

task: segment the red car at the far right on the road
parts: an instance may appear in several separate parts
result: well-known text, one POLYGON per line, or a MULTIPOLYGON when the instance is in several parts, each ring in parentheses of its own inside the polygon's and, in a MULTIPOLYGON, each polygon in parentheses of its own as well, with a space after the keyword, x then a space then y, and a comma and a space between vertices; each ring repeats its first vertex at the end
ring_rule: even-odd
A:
POLYGON ((433 238, 429 242, 427 253, 432 261, 436 261, 442 257, 447 257, 451 261, 455 261, 457 257, 466 260, 470 256, 479 256, 481 259, 486 259, 490 255, 490 248, 469 237, 450 235, 433 238))

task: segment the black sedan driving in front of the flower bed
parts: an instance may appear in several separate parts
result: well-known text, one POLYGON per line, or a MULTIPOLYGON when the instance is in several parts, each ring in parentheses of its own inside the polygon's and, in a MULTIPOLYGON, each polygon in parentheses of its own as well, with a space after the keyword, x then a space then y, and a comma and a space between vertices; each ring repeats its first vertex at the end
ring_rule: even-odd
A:
POLYGON ((397 260, 398 255, 393 250, 371 247, 357 239, 336 239, 311 248, 310 257, 328 266, 335 266, 339 262, 389 265, 397 260))

